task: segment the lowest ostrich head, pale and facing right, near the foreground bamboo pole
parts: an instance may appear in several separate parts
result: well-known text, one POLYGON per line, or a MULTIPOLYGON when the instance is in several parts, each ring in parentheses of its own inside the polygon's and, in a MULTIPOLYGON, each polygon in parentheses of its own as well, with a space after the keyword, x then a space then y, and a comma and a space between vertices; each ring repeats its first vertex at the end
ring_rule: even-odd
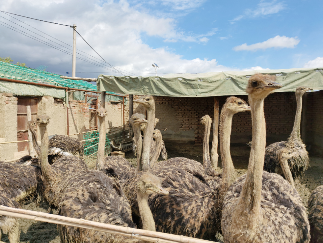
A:
POLYGON ((161 187, 161 178, 151 173, 145 173, 140 177, 137 183, 138 190, 143 194, 158 193, 168 195, 168 191, 161 187))

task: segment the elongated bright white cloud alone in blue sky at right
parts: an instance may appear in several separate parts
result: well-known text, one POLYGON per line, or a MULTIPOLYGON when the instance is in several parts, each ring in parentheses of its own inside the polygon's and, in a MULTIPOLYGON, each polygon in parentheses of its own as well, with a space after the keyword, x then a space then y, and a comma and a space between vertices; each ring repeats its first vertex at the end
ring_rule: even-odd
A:
POLYGON ((297 37, 275 36, 274 38, 267 39, 264 42, 258 42, 256 44, 247 45, 247 43, 233 48, 235 51, 239 50, 266 50, 267 48, 294 48, 299 43, 297 37))

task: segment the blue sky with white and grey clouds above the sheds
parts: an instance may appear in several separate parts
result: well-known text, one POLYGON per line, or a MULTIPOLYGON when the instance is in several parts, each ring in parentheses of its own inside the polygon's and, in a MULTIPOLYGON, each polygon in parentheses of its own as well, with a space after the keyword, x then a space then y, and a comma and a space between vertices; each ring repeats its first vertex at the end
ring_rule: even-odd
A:
MULTIPOLYGON (((106 61, 147 76, 154 72, 152 62, 160 66, 159 73, 323 67, 322 5, 278 0, 12 0, 0 3, 0 10, 75 23, 106 61)), ((18 23, 0 16, 5 23, 3 17, 18 23)), ((71 44, 69 27, 17 18, 71 44)), ((47 71, 59 74, 71 72, 67 54, 4 26, 0 32, 1 57, 30 67, 46 65, 47 71)), ((80 38, 77 47, 96 55, 80 38)), ((77 76, 112 71, 77 61, 77 76)))

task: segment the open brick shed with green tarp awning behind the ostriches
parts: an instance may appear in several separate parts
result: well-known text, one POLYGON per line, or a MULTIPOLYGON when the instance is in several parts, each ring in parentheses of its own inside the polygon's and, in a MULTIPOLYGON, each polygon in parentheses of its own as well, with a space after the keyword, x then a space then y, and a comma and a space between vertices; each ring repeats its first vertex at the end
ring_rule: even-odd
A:
MULTIPOLYGON (((247 101, 245 87, 249 77, 257 72, 276 75, 283 88, 265 101, 267 144, 286 140, 292 131, 295 112, 295 90, 307 86, 317 92, 303 96, 302 138, 310 153, 322 154, 323 149, 323 72, 322 69, 281 69, 245 72, 208 72, 201 74, 168 74, 150 77, 115 77, 99 75, 98 90, 124 94, 151 94, 156 103, 156 128, 165 140, 203 143, 200 118, 206 114, 217 120, 228 96, 247 101), (214 112, 215 111, 215 112, 214 112)), ((218 124, 215 123, 215 129, 218 124)), ((251 115, 238 113, 233 118, 231 143, 251 140, 251 115)), ((211 131, 213 134, 213 131, 211 131)), ((215 133, 217 134, 217 133, 215 133)), ((212 136, 212 135, 211 135, 212 136)), ((210 138, 212 141, 212 137, 210 138)), ((215 142, 217 138, 215 138, 215 142)))

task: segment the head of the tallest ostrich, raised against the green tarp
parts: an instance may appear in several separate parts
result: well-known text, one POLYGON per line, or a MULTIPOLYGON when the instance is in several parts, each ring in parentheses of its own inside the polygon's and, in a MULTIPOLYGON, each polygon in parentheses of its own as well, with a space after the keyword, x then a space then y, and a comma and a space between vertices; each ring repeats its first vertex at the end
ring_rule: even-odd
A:
POLYGON ((256 73, 250 77, 246 92, 254 99, 265 99, 275 89, 283 87, 283 85, 275 81, 275 76, 256 73))

